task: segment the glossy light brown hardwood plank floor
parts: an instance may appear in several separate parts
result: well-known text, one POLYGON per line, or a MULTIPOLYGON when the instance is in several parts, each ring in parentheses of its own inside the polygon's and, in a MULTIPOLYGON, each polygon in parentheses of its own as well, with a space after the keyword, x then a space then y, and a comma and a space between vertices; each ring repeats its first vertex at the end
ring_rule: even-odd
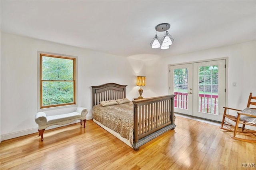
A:
POLYGON ((86 121, 2 141, 0 169, 16 170, 249 170, 256 144, 232 139, 219 126, 176 116, 170 130, 139 151, 86 121), (243 164, 244 163, 244 164, 243 164), (246 166, 246 167, 243 167, 246 166))

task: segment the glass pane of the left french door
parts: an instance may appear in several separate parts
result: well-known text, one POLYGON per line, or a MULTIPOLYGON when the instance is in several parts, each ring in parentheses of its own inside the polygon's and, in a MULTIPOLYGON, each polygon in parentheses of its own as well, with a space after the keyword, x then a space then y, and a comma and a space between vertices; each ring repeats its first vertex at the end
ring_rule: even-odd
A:
POLYGON ((188 68, 174 69, 174 107, 188 109, 188 68))

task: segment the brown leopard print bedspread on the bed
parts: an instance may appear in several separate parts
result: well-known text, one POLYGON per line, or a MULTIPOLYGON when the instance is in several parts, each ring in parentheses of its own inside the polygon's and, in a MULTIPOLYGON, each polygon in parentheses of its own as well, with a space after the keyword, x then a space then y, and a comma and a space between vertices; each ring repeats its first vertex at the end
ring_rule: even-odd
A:
POLYGON ((95 105, 92 117, 119 133, 133 144, 133 103, 124 103, 112 106, 95 105))

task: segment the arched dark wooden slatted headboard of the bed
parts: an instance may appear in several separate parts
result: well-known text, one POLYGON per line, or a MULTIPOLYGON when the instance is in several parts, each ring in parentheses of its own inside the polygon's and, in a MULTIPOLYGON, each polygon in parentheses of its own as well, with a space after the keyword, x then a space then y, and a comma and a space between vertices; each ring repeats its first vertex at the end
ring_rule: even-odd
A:
POLYGON ((92 87, 92 107, 100 104, 101 101, 126 98, 125 88, 127 85, 106 83, 92 87))

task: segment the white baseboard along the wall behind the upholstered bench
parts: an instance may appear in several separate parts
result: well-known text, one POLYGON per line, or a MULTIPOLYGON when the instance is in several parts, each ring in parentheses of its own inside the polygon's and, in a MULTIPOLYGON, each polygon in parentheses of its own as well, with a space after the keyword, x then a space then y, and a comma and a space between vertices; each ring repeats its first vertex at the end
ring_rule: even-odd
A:
MULTIPOLYGON (((90 119, 92 119, 92 115, 86 116, 86 120, 90 120, 90 119)), ((78 122, 80 122, 80 120, 76 120, 76 121, 74 121, 72 123, 69 123, 69 124, 75 124, 75 123, 78 123, 78 122)), ((58 128, 58 127, 61 127, 61 126, 67 126, 69 124, 53 125, 53 126, 50 126, 50 127, 46 128, 46 130, 53 129, 53 128, 58 128)), ((2 142, 4 140, 12 139, 12 138, 17 138, 17 137, 20 137, 20 136, 25 136, 25 135, 28 135, 28 134, 33 134, 33 133, 38 133, 38 128, 22 130, 22 131, 19 131, 19 132, 13 132, 13 133, 9 133, 9 134, 2 134, 2 135, 0 135, 0 142, 2 142)))

